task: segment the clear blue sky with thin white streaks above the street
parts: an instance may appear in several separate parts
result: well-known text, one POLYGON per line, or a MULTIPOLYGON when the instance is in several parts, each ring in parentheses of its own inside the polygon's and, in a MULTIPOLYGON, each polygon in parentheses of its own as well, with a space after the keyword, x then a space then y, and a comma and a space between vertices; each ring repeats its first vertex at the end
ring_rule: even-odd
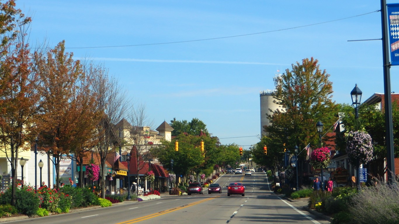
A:
MULTIPOLYGON (((351 104, 355 84, 362 102, 384 92, 382 42, 368 40, 381 38, 376 0, 17 0, 16 7, 32 16, 32 46, 65 40, 74 59, 102 64, 145 105, 152 129, 198 118, 222 144, 248 149, 260 138, 260 91, 274 89, 278 70, 310 57, 330 74, 336 103, 351 104)), ((397 66, 390 71, 399 93, 397 66)))

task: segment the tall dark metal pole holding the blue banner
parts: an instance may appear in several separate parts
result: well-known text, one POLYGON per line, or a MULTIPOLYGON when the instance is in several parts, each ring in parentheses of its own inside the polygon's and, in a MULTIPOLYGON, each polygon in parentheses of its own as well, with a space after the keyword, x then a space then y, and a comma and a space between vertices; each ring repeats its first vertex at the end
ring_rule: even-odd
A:
POLYGON ((387 147, 387 168, 388 183, 395 178, 395 161, 393 154, 393 124, 392 124, 392 103, 391 103, 391 76, 389 68, 389 41, 386 0, 381 0, 381 26, 382 26, 382 52, 383 52, 383 74, 384 74, 384 104, 385 104, 385 144, 387 147), (392 173, 391 173, 392 172, 392 173))

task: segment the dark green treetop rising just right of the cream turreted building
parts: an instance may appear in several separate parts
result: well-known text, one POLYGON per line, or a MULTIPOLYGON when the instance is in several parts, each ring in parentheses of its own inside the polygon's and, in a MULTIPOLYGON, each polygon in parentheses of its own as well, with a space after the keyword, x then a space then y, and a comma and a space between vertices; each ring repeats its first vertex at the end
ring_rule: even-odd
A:
POLYGON ((193 118, 191 122, 187 122, 187 120, 178 121, 176 118, 173 118, 173 120, 170 121, 170 126, 174 128, 172 136, 178 136, 184 132, 189 135, 199 136, 201 131, 203 134, 209 136, 206 124, 198 118, 193 118))

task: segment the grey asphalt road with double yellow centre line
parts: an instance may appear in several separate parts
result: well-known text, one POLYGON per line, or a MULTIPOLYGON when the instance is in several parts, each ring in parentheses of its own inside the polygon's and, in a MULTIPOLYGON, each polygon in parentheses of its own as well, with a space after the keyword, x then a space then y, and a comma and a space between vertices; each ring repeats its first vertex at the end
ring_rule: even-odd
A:
MULTIPOLYGON (((330 223, 302 210, 269 189, 265 173, 251 176, 225 174, 217 179, 221 194, 167 195, 143 202, 125 202, 108 208, 97 208, 69 214, 59 214, 13 224, 254 224, 254 223, 330 223), (227 196, 227 185, 241 182, 245 196, 227 196)), ((4 222, 7 223, 7 222, 4 222)), ((8 222, 11 223, 11 222, 8 222)))

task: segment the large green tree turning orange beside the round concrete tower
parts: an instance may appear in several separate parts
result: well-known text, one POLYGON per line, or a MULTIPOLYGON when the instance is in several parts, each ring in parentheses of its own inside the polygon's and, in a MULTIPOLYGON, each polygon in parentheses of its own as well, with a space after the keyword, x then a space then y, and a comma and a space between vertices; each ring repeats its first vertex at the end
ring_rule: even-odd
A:
POLYGON ((292 70, 286 69, 279 77, 273 94, 279 109, 272 111, 268 117, 272 125, 265 127, 269 138, 280 143, 276 147, 282 149, 283 143, 288 148, 305 147, 309 142, 316 145, 316 122, 321 120, 331 125, 336 122, 336 105, 331 100, 332 83, 328 77, 313 58, 292 64, 292 70))

